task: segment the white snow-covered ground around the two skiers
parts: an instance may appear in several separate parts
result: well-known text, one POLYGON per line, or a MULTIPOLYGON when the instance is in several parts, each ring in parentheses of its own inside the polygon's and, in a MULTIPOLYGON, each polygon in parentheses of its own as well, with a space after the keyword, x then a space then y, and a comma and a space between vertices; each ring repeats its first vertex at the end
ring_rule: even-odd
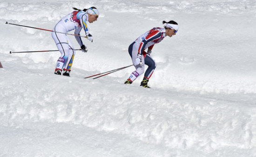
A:
POLYGON ((0 23, 1 157, 256 157, 255 0, 2 0, 0 23), (57 48, 6 21, 52 30, 92 6, 71 77, 53 74, 59 52, 9 54, 57 48), (162 20, 180 29, 154 46, 151 89, 123 84, 134 67, 83 79, 131 65, 128 46, 162 20))

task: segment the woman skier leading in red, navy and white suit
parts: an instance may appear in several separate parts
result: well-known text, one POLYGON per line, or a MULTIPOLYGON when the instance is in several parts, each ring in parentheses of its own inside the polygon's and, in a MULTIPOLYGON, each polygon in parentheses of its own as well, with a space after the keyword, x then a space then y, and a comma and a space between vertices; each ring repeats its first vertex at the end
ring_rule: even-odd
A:
POLYGON ((156 67, 155 61, 150 56, 152 48, 155 44, 162 41, 162 39, 164 39, 166 36, 172 37, 173 35, 176 35, 179 29, 178 24, 173 20, 169 22, 163 21, 162 23, 166 24, 164 28, 155 27, 147 31, 129 46, 128 52, 132 58, 136 70, 131 73, 130 77, 127 79, 127 81, 125 81, 124 84, 132 84, 132 82, 138 76, 144 73, 144 65, 148 65, 148 69, 146 70, 144 78, 141 81, 141 86, 150 88, 148 86, 148 80, 156 67), (148 49, 148 51, 145 52, 145 49, 148 49))

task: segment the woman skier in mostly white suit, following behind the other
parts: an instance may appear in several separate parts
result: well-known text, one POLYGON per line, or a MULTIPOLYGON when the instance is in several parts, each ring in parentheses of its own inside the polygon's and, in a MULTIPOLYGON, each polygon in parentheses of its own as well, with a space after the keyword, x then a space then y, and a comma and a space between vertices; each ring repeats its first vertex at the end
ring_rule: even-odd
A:
MULTIPOLYGON (((67 14, 54 26, 52 37, 61 52, 60 58, 57 60, 54 74, 61 75, 63 70, 64 76, 69 76, 71 66, 73 64, 75 50, 71 41, 66 34, 74 30, 74 34, 80 35, 81 29, 85 31, 87 39, 93 42, 93 36, 88 32, 87 21, 93 23, 99 17, 99 11, 96 7, 88 9, 77 9, 72 13, 67 14), (61 33, 56 33, 61 32, 61 33)), ((75 39, 81 46, 82 52, 87 52, 87 47, 83 44, 80 36, 75 36, 75 39)))

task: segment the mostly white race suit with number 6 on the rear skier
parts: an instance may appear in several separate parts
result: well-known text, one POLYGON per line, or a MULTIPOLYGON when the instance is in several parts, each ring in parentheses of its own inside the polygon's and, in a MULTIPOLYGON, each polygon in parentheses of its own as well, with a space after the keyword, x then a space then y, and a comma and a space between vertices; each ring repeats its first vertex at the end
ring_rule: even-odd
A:
MULTIPOLYGON (((80 31, 83 29, 86 34, 90 34, 88 32, 86 21, 88 21, 88 14, 86 12, 74 11, 67 14, 54 26, 53 31, 61 32, 52 33, 57 48, 61 52, 61 56, 56 63, 56 69, 62 70, 64 67, 63 70, 70 71, 75 55, 74 46, 67 35, 63 33, 68 33, 69 31, 74 30, 74 34, 80 35, 80 31)), ((80 46, 84 45, 81 37, 75 36, 75 39, 80 46)))

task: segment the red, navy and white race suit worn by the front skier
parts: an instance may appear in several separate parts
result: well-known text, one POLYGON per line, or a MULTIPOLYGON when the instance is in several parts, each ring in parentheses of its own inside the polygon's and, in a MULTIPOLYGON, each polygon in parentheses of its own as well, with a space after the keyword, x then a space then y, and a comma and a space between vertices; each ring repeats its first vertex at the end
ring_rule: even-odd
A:
POLYGON ((146 33, 142 34, 139 38, 137 38, 128 48, 128 52, 132 58, 133 64, 135 63, 135 59, 138 54, 141 54, 141 62, 142 64, 136 65, 136 70, 131 73, 129 79, 134 81, 138 76, 144 73, 144 65, 148 65, 148 69, 144 74, 144 79, 149 79, 153 74, 156 64, 152 59, 150 54, 145 52, 145 49, 152 49, 153 46, 162 39, 165 38, 165 28, 155 27, 146 33))

